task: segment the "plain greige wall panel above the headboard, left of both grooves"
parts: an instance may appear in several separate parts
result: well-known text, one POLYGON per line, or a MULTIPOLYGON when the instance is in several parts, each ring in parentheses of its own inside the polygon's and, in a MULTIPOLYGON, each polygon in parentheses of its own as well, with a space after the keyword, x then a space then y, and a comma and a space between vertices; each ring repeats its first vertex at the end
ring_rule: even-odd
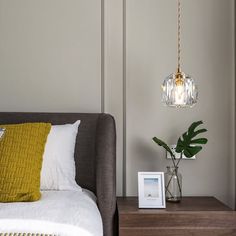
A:
POLYGON ((0 1, 1 111, 99 112, 101 1, 0 1))

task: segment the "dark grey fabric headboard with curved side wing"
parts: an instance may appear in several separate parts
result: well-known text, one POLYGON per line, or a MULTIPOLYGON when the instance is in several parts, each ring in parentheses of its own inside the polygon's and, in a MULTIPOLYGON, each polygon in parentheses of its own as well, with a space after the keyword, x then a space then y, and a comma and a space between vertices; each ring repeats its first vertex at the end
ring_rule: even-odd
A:
MULTIPOLYGON (((0 112, 0 124, 81 120, 75 147, 76 181, 97 196, 105 236, 116 235, 116 130, 104 113, 0 112)), ((78 203, 79 204, 79 203, 78 203)))

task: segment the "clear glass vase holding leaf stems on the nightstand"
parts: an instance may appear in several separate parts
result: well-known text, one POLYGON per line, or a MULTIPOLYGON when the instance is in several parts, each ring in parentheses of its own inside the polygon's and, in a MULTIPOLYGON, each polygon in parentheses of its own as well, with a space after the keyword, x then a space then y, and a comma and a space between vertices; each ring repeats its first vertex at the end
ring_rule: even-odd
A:
POLYGON ((165 173, 166 201, 180 202, 182 198, 182 175, 178 167, 167 166, 165 173))

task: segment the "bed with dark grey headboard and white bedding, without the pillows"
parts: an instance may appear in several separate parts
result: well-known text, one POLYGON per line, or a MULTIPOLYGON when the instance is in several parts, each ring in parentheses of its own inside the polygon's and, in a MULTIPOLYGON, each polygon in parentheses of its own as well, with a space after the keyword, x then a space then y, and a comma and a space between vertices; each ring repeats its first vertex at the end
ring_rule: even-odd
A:
MULTIPOLYGON (((113 117, 104 113, 0 112, 0 124, 50 122, 53 125, 59 125, 73 123, 76 120, 81 120, 75 145, 76 182, 83 191, 73 193, 44 191, 42 200, 39 202, 0 204, 0 230, 3 229, 2 232, 6 232, 4 227, 8 224, 23 228, 24 223, 27 222, 32 227, 38 227, 37 220, 42 219, 41 229, 60 227, 68 236, 117 235, 116 132, 113 117), (40 215, 37 209, 44 209, 46 212, 47 203, 52 202, 52 199, 54 202, 52 210, 48 214, 40 215), (84 204, 80 204, 81 202, 84 204), (66 209, 63 209, 63 206, 66 209), (79 214, 77 216, 70 214, 69 208, 73 211, 78 208, 79 214), (65 213, 63 215, 66 216, 65 219, 68 222, 70 218, 74 221, 73 225, 64 221, 60 222, 62 212, 65 213), (7 219, 4 217, 6 214, 7 219), (76 231, 77 225, 81 226, 78 231, 76 231)), ((0 234, 2 232, 0 231, 0 234)), ((39 233, 43 235, 44 232, 39 233)))

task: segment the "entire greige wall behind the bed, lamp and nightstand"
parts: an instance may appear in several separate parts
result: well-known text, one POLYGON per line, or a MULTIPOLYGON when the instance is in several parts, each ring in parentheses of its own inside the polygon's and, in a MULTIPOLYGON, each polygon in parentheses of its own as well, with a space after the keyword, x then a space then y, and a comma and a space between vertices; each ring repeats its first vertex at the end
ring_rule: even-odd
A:
POLYGON ((176 1, 0 0, 0 110, 112 113, 118 195, 137 195, 138 171, 165 171, 154 135, 173 143, 202 119, 209 143, 181 163, 184 194, 232 206, 233 4, 182 0, 183 69, 200 93, 196 107, 176 110, 160 102, 176 69, 176 1))

